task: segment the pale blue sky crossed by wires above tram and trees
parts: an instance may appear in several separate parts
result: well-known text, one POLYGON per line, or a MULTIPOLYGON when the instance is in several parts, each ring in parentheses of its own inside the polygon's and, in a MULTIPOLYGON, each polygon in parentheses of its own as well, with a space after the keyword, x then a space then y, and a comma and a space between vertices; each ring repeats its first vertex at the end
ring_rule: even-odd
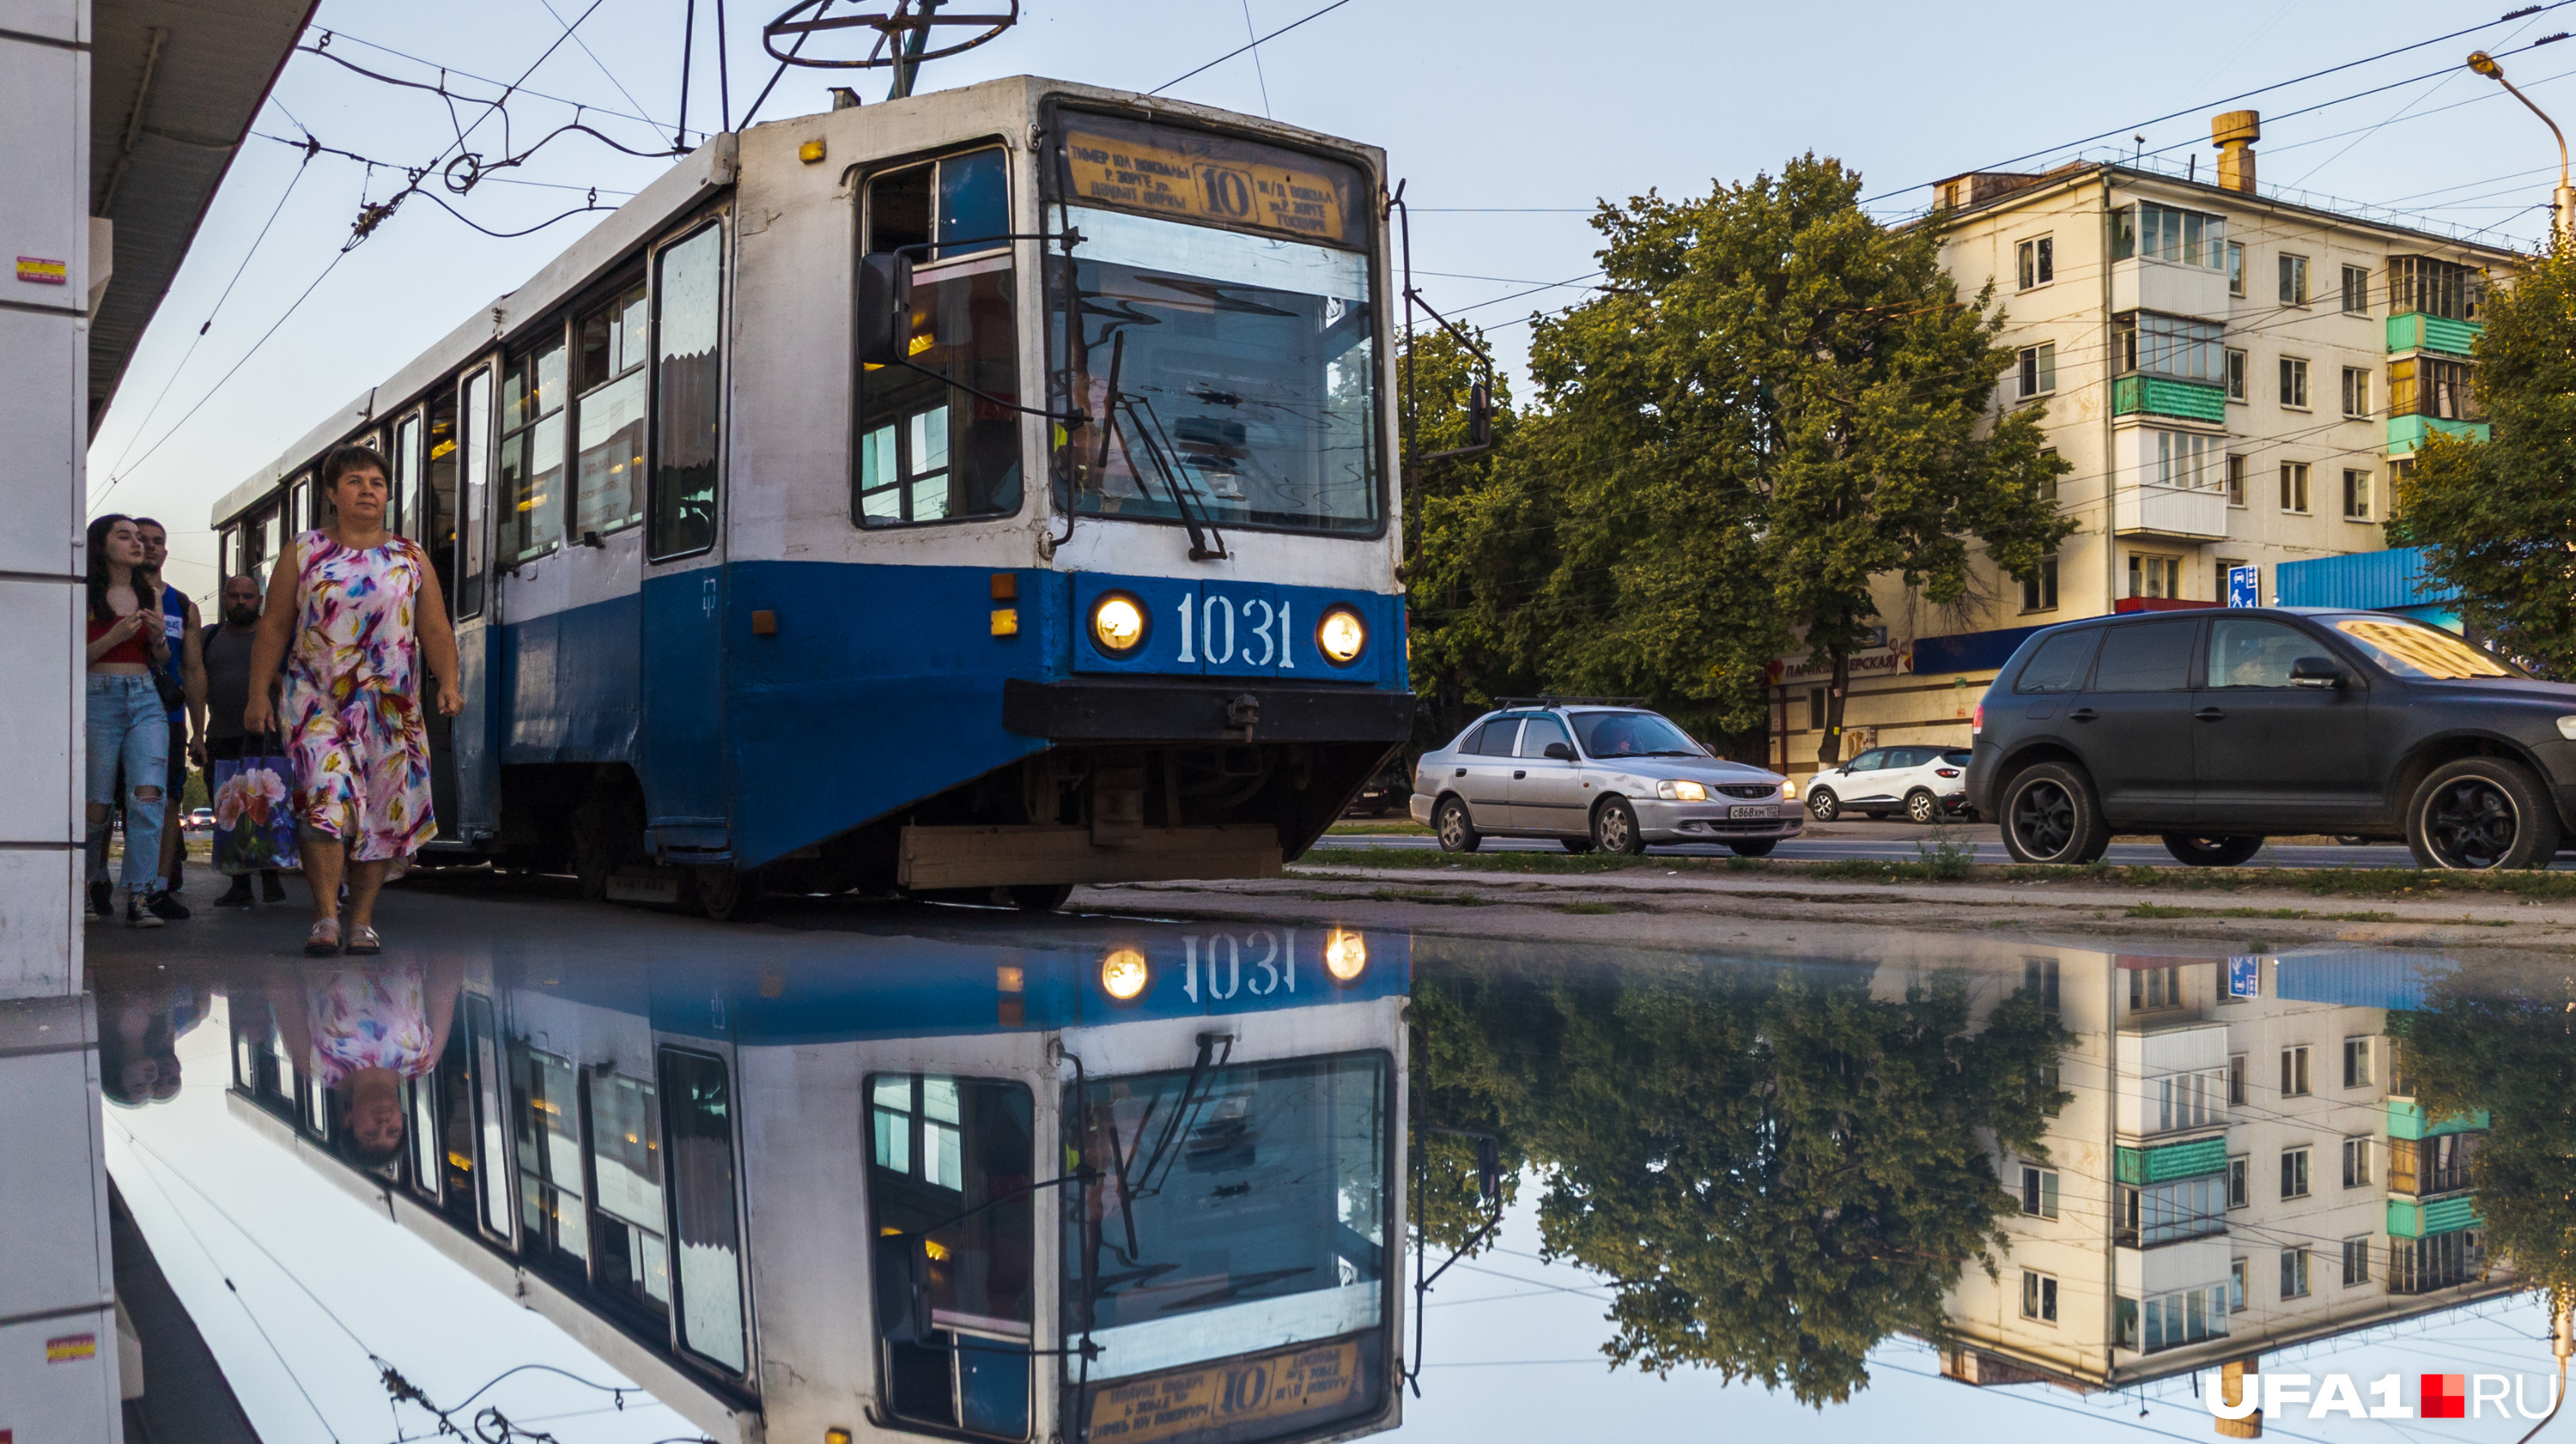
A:
MULTIPOLYGON (((513 80, 562 39, 562 21, 585 15, 585 3, 322 0, 317 26, 337 31, 330 54, 402 80, 435 80, 438 67, 513 80)), ((933 64, 925 88, 1038 72, 1151 90, 1319 3, 1030 0, 1015 31, 933 64)), ((1530 306, 1564 304, 1579 291, 1484 301, 1587 273, 1595 250, 1587 214, 1597 198, 1649 188, 1705 193, 1713 180, 1747 180, 1816 149, 1860 167, 1868 193, 1886 193, 1880 208, 1893 216, 1919 208, 1922 185, 1935 178, 2025 152, 2045 152, 2030 167, 2048 165, 2094 134, 2115 136, 2097 144, 2123 149, 2143 134, 2143 149, 2179 147, 2169 152, 2179 162, 2192 149, 2208 152, 2208 113, 2231 108, 2218 103, 2241 90, 2429 41, 2504 8, 2501 0, 2476 10, 2251 0, 2151 15, 1649 0, 1595 23, 1579 8, 1528 0, 1347 0, 1265 44, 1257 64, 1255 54, 1229 59, 1172 95, 1383 144, 1394 172, 1412 183, 1417 273, 1448 273, 1425 278, 1425 291, 1437 306, 1497 327, 1504 355, 1517 360, 1528 335, 1517 322, 1530 306), (2172 111, 2182 116, 2146 124, 2172 111)), ((693 131, 714 124, 719 106, 714 10, 714 0, 698 5, 693 131)), ((556 46, 528 88, 592 106, 585 121, 623 144, 667 144, 677 118, 680 15, 683 0, 600 0, 580 21, 580 44, 556 46)), ((757 3, 726 13, 737 116, 770 75, 760 54, 765 18, 757 3)), ((2545 214, 2530 206, 2548 198, 2555 149, 2540 121, 2458 62, 2473 46, 2504 54, 2566 28, 2576 28, 2576 5, 2550 5, 2244 100, 2267 116, 2262 178, 2421 206, 2434 219, 2496 227, 2494 234, 2530 245, 2545 229, 2545 214), (2393 88, 2344 100, 2383 85, 2393 88), (2290 116, 2318 103, 2329 106, 2290 116)), ((2576 41, 2506 57, 2506 69, 2576 124, 2576 82, 2566 80, 2576 72, 2576 41)), ((840 80, 848 75, 791 69, 762 118, 824 108, 824 88, 840 80)), ((495 93, 456 75, 451 85, 495 93)), ((873 100, 884 95, 884 72, 863 72, 858 85, 873 100)), ((513 100, 513 136, 523 144, 569 121, 569 103, 513 100)), ((477 111, 459 116, 471 121, 477 111)), ((453 139, 435 95, 379 85, 314 54, 291 59, 255 129, 299 139, 304 126, 322 144, 397 165, 420 165, 453 139)), ((477 134, 477 144, 489 129, 497 126, 477 134)), ((214 584, 214 538, 204 530, 214 497, 526 281, 592 221, 574 216, 523 239, 489 239, 415 198, 173 430, 314 283, 361 198, 384 198, 402 183, 399 172, 325 154, 301 167, 289 196, 299 162, 301 152, 286 144, 247 144, 90 453, 93 510, 106 499, 170 523, 180 561, 173 579, 193 595, 214 584), (252 250, 270 214, 276 224, 252 250), (232 293, 216 309, 227 286, 232 293), (209 317, 214 327, 198 337, 209 317)), ((564 136, 459 208, 489 229, 520 229, 580 206, 592 185, 613 203, 659 165, 564 136)))

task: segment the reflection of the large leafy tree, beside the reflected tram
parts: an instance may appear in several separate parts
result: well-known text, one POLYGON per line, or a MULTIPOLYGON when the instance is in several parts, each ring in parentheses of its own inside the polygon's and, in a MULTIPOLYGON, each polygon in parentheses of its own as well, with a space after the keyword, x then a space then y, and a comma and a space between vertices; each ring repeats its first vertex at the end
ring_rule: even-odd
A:
MULTIPOLYGON (((1618 1364, 1710 1367, 1839 1403, 1891 1333, 1940 1338, 1968 1261, 1994 1269, 1996 1145, 2043 1156, 2069 1035, 1968 978, 1901 999, 1870 970, 1419 960, 1425 1122, 1492 1130, 1533 1171, 1551 1259, 1610 1279, 1618 1364)), ((1432 1138, 1435 1243, 1479 1228, 1473 1151, 1432 1138)))

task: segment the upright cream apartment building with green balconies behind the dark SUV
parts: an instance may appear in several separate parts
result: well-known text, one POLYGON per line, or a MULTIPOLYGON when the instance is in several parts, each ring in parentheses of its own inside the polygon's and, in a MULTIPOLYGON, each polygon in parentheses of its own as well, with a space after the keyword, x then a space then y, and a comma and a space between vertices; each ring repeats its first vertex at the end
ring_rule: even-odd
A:
MULTIPOLYGON (((2300 564, 2380 551, 2424 438, 2486 435, 2468 350, 2514 252, 2264 193, 2254 113, 2213 134, 2208 178, 2192 157, 2179 175, 2076 162, 1940 183, 1924 224, 1963 296, 1994 283, 2017 353, 1996 407, 2045 407, 2079 530, 2035 577, 1978 566, 1960 607, 1883 579, 1888 625, 1855 656, 1842 757, 1963 746, 1978 690, 2038 625, 2223 605, 2231 574, 2262 602, 2326 600, 2300 564)), ((2424 595, 2411 566, 2378 566, 2336 574, 2331 600, 2424 595)), ((1806 775, 1829 667, 1783 656, 1772 682, 1772 764, 1806 775)))

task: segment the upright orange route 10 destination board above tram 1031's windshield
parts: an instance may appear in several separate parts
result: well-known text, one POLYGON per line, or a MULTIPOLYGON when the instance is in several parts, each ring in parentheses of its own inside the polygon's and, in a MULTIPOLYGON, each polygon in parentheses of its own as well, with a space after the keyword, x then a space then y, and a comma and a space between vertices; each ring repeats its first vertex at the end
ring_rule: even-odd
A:
POLYGON ((1358 172, 1293 149, 1069 116, 1064 162, 1074 198, 1092 206, 1360 245, 1358 172))

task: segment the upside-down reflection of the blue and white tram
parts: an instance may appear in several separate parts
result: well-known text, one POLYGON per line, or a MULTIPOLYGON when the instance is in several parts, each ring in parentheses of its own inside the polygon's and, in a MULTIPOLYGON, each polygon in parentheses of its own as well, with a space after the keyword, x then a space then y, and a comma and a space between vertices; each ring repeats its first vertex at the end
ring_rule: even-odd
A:
POLYGON ((1401 937, 832 940, 425 963, 389 1156, 237 986, 232 1109, 714 1439, 1396 1426, 1401 937))

